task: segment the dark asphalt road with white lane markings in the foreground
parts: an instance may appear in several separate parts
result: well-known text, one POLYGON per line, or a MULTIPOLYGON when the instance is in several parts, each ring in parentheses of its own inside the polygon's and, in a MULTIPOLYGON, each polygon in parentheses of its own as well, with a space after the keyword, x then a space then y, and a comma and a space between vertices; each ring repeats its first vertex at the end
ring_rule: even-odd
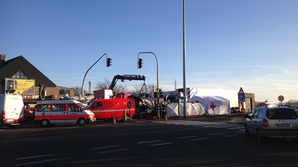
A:
POLYGON ((0 127, 1 167, 297 167, 291 139, 259 143, 244 117, 0 127))

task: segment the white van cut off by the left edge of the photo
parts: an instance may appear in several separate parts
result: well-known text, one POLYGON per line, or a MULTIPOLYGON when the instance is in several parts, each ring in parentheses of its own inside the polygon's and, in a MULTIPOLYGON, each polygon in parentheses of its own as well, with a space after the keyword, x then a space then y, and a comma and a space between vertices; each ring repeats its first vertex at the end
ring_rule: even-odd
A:
POLYGON ((0 94, 0 125, 14 128, 23 121, 24 103, 21 95, 0 94))

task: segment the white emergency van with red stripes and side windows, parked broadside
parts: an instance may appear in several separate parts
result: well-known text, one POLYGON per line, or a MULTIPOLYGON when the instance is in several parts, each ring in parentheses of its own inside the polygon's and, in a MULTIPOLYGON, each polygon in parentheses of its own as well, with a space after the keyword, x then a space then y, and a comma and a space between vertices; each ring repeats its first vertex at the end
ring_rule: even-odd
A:
POLYGON ((75 100, 38 101, 34 122, 41 126, 55 123, 77 123, 84 126, 96 120, 93 112, 75 100))

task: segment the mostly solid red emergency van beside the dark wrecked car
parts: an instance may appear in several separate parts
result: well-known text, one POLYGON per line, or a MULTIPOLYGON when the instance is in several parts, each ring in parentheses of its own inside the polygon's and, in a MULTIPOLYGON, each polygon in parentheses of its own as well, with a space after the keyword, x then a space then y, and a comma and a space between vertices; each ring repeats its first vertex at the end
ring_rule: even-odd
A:
POLYGON ((136 112, 135 100, 134 99, 100 99, 93 101, 88 107, 92 111, 96 119, 111 118, 112 114, 114 117, 123 117, 124 110, 126 110, 127 117, 133 117, 136 112), (129 111, 127 103, 131 103, 129 111))

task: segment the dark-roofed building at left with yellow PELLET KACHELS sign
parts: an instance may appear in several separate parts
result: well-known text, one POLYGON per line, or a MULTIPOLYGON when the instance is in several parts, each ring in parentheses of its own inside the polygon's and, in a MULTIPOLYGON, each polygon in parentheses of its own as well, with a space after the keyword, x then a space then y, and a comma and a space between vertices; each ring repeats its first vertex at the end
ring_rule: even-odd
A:
POLYGON ((21 94, 25 105, 36 103, 39 98, 39 85, 46 86, 45 98, 48 100, 63 97, 63 89, 66 89, 70 96, 74 96, 74 89, 56 86, 23 56, 5 61, 5 55, 0 55, 0 94, 21 94))

